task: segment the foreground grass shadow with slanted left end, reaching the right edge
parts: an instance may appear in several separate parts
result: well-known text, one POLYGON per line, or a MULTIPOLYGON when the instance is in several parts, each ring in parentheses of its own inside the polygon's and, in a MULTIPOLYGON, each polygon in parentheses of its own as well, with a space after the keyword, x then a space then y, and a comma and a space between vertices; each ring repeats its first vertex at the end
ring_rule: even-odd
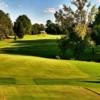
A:
MULTIPOLYGON (((88 80, 88 79, 33 79, 33 81, 37 85, 67 85, 67 84, 86 84, 86 83, 91 83, 91 84, 99 84, 100 81, 98 80, 88 80)), ((100 84, 99 84, 100 85, 100 84)))

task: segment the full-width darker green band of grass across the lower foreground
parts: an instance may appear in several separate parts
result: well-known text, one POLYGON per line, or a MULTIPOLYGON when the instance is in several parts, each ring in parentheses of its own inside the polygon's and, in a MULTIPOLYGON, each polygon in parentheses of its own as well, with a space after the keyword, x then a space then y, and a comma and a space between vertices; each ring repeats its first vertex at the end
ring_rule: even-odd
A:
POLYGON ((100 80, 90 80, 90 79, 43 79, 43 78, 0 78, 0 85, 72 85, 72 86, 82 86, 82 87, 94 87, 100 88, 100 80))

